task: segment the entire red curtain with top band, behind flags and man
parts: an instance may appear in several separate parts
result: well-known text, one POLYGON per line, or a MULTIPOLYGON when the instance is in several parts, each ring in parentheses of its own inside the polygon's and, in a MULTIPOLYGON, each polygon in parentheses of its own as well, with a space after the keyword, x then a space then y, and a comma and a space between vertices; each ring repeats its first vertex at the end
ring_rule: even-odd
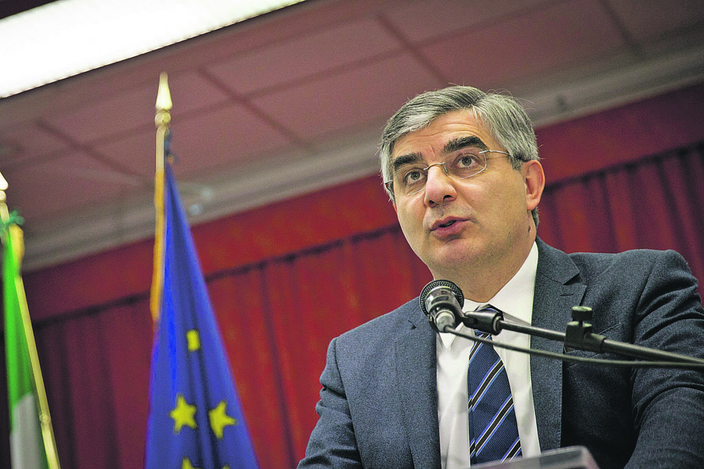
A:
MULTIPOLYGON (((687 111, 702 108, 703 89, 541 129, 549 184, 539 236, 567 252, 673 248, 704 281, 704 144, 696 143, 704 141, 704 116, 687 111), (639 142, 650 127, 628 127, 623 150, 612 146, 613 118, 636 126, 634 115, 671 115, 667 106, 685 106, 684 127, 647 146, 639 142), (601 136, 608 145, 595 143, 601 136), (610 160, 591 158, 609 148, 610 160)), ((430 274, 377 176, 193 232, 260 462, 293 467, 318 418, 329 340, 417 296, 430 274)), ((146 240, 25 274, 64 468, 142 466, 151 247, 146 240)), ((7 434, 5 418, 0 465, 8 463, 7 434)))

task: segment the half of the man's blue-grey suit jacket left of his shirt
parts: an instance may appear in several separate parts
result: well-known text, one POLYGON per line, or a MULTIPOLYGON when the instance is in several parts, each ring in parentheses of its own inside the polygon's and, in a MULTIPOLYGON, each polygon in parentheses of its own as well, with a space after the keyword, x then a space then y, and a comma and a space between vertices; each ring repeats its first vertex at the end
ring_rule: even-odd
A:
POLYGON ((439 468, 435 362, 417 299, 332 340, 300 467, 439 468))

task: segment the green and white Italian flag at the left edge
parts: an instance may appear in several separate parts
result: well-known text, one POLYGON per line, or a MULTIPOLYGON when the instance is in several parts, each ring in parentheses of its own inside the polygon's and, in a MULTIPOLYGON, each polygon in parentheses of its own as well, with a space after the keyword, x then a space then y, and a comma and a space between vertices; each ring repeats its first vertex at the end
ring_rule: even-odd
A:
MULTIPOLYGON (((23 255, 22 230, 8 224, 3 230, 3 288, 5 310, 5 356, 10 404, 10 448, 13 469, 47 468, 39 426, 37 390, 32 377, 30 352, 23 312, 27 313, 25 288, 20 277, 23 255)), ((29 314, 26 323, 31 328, 29 314)), ((34 342, 31 330, 29 331, 34 342)), ((34 346, 34 343, 32 343, 34 346)))

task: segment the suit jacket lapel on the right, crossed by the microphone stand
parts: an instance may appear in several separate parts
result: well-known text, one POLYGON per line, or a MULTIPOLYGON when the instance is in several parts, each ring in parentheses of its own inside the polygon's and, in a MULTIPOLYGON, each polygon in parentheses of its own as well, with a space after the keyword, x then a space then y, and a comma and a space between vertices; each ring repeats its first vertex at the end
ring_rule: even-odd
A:
MULTIPOLYGON (((539 328, 563 332, 570 321, 572 307, 582 302, 586 285, 579 278, 572 281, 579 276, 579 269, 565 252, 551 248, 540 239, 536 242, 539 256, 532 323, 539 328)), ((564 344, 533 337, 531 347, 562 353, 564 344)), ((531 383, 541 449, 558 448, 562 426, 562 362, 532 356, 531 383)))

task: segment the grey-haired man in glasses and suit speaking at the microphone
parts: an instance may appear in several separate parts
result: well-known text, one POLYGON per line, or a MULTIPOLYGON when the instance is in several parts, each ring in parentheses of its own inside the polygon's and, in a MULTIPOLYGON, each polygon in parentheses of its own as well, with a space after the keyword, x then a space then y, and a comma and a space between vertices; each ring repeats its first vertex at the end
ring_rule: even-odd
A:
MULTIPOLYGON (((416 96, 386 124, 380 156, 408 243, 434 278, 463 290, 463 310, 490 304, 507 321, 565 330, 571 307, 585 305, 594 332, 611 340, 704 357, 696 279, 677 253, 567 255, 536 237, 545 176, 513 98, 465 86, 416 96)), ((494 339, 563 352, 510 331, 494 339)), ((472 343, 435 333, 417 299, 332 340, 300 467, 481 462, 467 423, 472 343)), ((488 347, 508 378, 509 417, 499 424, 517 432, 519 455, 579 444, 601 468, 704 467, 702 371, 565 364, 488 347)))

